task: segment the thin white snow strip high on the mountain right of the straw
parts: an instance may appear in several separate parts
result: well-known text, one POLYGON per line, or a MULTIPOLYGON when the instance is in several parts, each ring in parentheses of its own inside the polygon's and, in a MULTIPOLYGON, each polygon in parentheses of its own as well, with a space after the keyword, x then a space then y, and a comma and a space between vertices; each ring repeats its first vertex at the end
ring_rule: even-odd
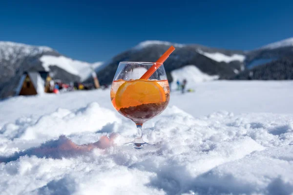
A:
POLYGON ((197 50, 198 53, 212 59, 215 60, 217 62, 226 62, 226 63, 230 63, 231 61, 240 61, 243 62, 245 60, 245 56, 244 55, 240 55, 240 54, 233 54, 232 56, 227 56, 225 54, 219 53, 219 52, 215 52, 215 53, 208 53, 208 52, 204 52, 202 50, 197 50))

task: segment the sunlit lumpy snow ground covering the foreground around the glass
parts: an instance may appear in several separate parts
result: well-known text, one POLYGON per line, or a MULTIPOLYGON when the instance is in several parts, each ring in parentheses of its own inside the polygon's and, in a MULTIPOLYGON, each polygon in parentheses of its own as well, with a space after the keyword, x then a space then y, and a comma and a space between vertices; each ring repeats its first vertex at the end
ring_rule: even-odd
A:
POLYGON ((109 90, 0 101, 0 194, 293 193, 293 82, 189 86, 194 93, 173 90, 168 108, 145 123, 153 152, 61 149, 113 132, 120 145, 135 133, 109 90))

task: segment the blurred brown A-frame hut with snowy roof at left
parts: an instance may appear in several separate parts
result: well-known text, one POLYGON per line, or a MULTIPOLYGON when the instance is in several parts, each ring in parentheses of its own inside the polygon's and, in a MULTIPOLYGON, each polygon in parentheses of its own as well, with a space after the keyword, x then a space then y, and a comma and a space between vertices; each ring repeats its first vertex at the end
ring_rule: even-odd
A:
POLYGON ((16 88, 16 96, 43 94, 47 72, 25 72, 16 88))

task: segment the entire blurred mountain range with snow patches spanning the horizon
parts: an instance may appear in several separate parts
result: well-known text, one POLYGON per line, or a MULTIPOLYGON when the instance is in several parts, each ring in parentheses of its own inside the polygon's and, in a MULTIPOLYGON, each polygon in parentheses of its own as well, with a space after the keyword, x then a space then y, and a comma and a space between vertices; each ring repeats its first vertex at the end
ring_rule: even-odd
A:
MULTIPOLYGON (((280 63, 288 62, 291 59, 287 57, 293 56, 293 38, 246 52, 211 48, 198 44, 146 40, 108 59, 106 62, 96 63, 70 59, 46 46, 0 41, 0 97, 3 97, 1 95, 3 88, 6 87, 6 92, 12 90, 14 88, 12 85, 15 85, 21 74, 27 70, 47 70, 51 72, 54 78, 61 78, 65 82, 92 82, 90 75, 94 70, 98 74, 102 85, 110 84, 120 61, 156 61, 170 45, 174 45, 176 48, 164 63, 170 82, 173 80, 172 71, 186 70, 181 68, 190 64, 193 64, 192 66, 201 73, 212 78, 234 79, 238 77, 238 74, 246 74, 243 72, 245 69, 252 70, 257 67, 258 71, 262 71, 259 66, 263 64, 283 58, 286 58, 286 60, 280 60, 280 63), (9 89, 7 89, 7 86, 9 86, 9 89)), ((267 75, 269 76, 266 76, 266 79, 272 77, 271 74, 267 75)), ((281 73, 277 75, 281 75, 281 73)), ((283 77, 278 78, 283 79, 283 77)), ((291 77, 286 76, 286 78, 291 77)), ((275 76, 271 79, 275 79, 275 76)), ((8 93, 8 95, 11 95, 11 93, 8 93)))

